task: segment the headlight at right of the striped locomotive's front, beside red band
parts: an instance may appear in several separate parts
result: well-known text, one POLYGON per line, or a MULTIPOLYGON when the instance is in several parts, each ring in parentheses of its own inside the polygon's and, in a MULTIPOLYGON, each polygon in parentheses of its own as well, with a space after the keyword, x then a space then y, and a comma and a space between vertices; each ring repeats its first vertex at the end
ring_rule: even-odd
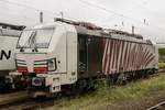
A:
POLYGON ((48 72, 56 70, 56 58, 47 59, 48 72))

